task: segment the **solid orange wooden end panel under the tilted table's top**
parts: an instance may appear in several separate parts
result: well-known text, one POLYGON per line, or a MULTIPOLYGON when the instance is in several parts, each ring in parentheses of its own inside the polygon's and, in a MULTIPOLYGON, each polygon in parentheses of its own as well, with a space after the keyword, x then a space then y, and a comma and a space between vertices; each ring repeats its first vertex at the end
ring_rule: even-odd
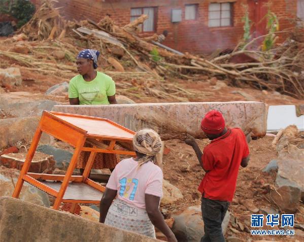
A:
POLYGON ((42 131, 76 147, 77 141, 82 139, 82 137, 86 134, 86 131, 82 131, 81 129, 76 130, 74 127, 56 119, 49 116, 47 112, 44 112, 44 116, 41 120, 42 131))

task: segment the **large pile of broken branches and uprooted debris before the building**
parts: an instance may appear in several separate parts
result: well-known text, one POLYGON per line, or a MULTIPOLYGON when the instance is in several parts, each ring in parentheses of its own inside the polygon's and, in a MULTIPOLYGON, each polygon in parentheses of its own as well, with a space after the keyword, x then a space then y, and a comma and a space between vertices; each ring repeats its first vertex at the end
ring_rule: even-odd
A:
MULTIPOLYGON (((303 36, 295 38, 295 34, 299 35, 301 31, 284 31, 289 35, 287 41, 267 52, 250 50, 253 43, 266 37, 263 36, 252 40, 243 48, 240 47, 241 45, 237 46, 226 55, 207 59, 190 54, 178 55, 146 41, 147 39, 140 38, 137 35, 138 26, 146 19, 147 16, 142 15, 123 27, 116 25, 109 17, 100 20, 97 24, 91 20, 66 22, 59 15, 58 9, 54 9, 48 1, 45 1, 32 19, 19 31, 25 33, 31 41, 41 41, 31 48, 33 55, 13 54, 9 51, 2 51, 0 55, 14 59, 26 68, 35 66, 38 67, 37 71, 50 71, 55 75, 70 78, 75 74, 71 62, 75 60, 77 53, 84 48, 94 48, 102 53, 98 63, 103 67, 102 71, 112 72, 111 75, 115 76, 116 81, 118 78, 122 82, 118 85, 127 90, 144 88, 145 92, 155 96, 170 93, 177 100, 181 98, 186 100, 184 96, 180 96, 181 93, 175 88, 176 85, 170 87, 165 87, 163 83, 160 85, 162 77, 192 79, 193 75, 203 74, 225 79, 231 85, 241 87, 250 85, 254 88, 275 90, 296 98, 304 98, 304 38, 303 36), (65 60, 61 63, 52 56, 37 58, 38 52, 56 48, 64 51, 65 60), (249 56, 250 61, 246 63, 233 61, 233 58, 240 55, 249 56), (56 70, 60 70, 61 73, 58 74, 56 70), (114 73, 114 71, 119 72, 114 73), (136 86, 132 80, 138 80, 141 85, 136 86), (135 86, 130 86, 131 83, 135 86), (168 91, 168 88, 173 90, 168 91)), ((183 94, 188 92, 193 94, 198 91, 187 91, 183 94)))

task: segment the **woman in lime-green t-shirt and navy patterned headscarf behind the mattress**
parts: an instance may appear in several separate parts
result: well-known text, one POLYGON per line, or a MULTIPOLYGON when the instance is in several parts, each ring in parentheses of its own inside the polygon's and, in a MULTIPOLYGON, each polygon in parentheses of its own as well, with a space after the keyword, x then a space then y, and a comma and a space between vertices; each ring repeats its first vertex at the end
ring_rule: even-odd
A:
MULTIPOLYGON (((82 50, 79 52, 76 64, 79 75, 73 77, 69 84, 69 99, 71 105, 109 105, 117 103, 115 98, 115 83, 108 75, 96 71, 99 51, 82 50)), ((106 142, 105 142, 106 143, 106 142)), ((86 144, 89 147, 89 144, 86 144)), ((78 157, 76 168, 83 174, 90 152, 82 151, 78 157)), ((114 169, 119 162, 116 154, 97 153, 93 169, 114 169)))

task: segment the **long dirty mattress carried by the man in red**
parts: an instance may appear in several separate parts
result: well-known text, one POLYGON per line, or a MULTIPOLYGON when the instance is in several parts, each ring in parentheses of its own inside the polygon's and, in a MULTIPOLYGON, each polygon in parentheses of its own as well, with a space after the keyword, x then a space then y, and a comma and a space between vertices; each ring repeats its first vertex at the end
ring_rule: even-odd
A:
POLYGON ((252 131, 254 137, 266 133, 267 107, 256 101, 65 105, 54 106, 53 111, 108 118, 134 131, 152 128, 162 140, 172 140, 184 139, 186 133, 197 139, 206 137, 200 129, 200 121, 213 109, 223 113, 229 127, 252 131))

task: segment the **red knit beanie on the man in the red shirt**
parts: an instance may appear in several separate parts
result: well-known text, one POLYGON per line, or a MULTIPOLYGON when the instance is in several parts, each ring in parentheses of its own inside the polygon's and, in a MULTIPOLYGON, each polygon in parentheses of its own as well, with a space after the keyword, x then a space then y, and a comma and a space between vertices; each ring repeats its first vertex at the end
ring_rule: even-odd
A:
POLYGON ((225 120, 223 118, 223 115, 217 110, 212 110, 208 112, 201 120, 200 128, 205 133, 221 133, 225 128, 225 120))

